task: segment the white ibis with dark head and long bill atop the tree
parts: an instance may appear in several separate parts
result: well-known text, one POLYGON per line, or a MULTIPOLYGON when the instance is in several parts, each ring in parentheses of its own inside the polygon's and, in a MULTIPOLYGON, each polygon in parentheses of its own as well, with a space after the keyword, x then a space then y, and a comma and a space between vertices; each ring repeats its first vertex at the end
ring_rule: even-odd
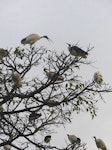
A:
POLYGON ((21 40, 21 44, 29 44, 30 46, 32 46, 35 42, 39 41, 40 39, 45 38, 48 41, 51 41, 48 36, 39 36, 38 34, 30 34, 27 37, 25 37, 24 39, 21 40))

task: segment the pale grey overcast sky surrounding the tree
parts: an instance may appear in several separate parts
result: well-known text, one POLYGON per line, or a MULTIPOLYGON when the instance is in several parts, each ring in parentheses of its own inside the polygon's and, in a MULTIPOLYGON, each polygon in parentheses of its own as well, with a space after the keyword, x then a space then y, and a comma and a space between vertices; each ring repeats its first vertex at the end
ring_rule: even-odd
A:
MULTIPOLYGON (((22 38, 31 33, 48 35, 54 45, 41 40, 57 52, 67 50, 66 42, 84 50, 94 46, 89 60, 93 67, 82 68, 84 79, 91 80, 93 73, 101 71, 104 80, 112 84, 112 0, 0 0, 0 47, 21 46, 22 38)), ((66 134, 76 134, 87 143, 88 150, 96 150, 92 136, 102 138, 112 149, 112 94, 99 102, 98 116, 91 119, 87 113, 73 114, 73 123, 61 128, 52 139, 63 146, 66 134)))

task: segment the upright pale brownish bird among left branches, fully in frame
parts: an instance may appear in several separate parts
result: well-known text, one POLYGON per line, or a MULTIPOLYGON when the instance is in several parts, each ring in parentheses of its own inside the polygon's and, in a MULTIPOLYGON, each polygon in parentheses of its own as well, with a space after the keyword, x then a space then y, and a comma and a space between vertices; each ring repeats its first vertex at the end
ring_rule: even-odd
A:
POLYGON ((12 72, 12 80, 14 82, 14 86, 16 86, 16 87, 22 86, 22 78, 18 72, 16 72, 16 71, 12 72))

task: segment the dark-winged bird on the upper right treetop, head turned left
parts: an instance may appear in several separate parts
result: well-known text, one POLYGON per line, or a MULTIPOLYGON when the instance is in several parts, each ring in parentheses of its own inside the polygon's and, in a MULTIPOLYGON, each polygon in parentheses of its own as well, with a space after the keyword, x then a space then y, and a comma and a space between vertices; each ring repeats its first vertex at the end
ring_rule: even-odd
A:
POLYGON ((82 58, 87 58, 88 53, 83 51, 81 48, 77 47, 77 46, 71 46, 71 44, 68 44, 68 50, 70 52, 71 55, 76 56, 76 57, 82 57, 82 58))

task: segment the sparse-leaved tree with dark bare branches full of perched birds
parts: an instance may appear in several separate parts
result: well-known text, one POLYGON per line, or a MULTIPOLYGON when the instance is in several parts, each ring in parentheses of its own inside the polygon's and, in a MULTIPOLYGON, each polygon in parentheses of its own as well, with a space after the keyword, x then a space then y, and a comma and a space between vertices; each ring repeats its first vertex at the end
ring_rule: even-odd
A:
MULTIPOLYGON (((17 47, 0 61, 0 147, 71 150, 74 144, 58 148, 39 137, 71 123, 71 114, 82 109, 94 118, 97 102, 103 93, 111 92, 107 84, 83 81, 78 75, 80 66, 91 64, 88 58, 64 51, 58 54, 44 47, 17 47)), ((84 143, 74 147, 86 149, 84 143)))

